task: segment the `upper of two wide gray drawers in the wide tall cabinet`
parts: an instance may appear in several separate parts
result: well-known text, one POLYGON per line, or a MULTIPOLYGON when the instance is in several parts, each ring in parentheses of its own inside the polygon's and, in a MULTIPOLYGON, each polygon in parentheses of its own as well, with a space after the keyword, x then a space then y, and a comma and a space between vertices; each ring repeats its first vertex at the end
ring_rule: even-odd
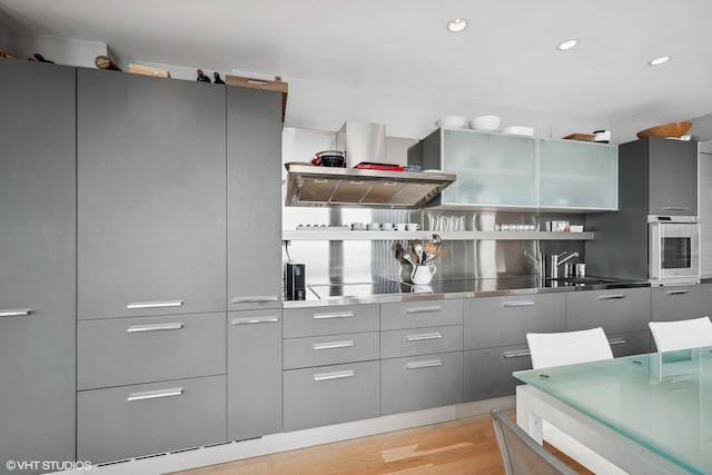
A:
POLYGON ((77 328, 80 390, 225 374, 225 314, 81 320, 77 328))

